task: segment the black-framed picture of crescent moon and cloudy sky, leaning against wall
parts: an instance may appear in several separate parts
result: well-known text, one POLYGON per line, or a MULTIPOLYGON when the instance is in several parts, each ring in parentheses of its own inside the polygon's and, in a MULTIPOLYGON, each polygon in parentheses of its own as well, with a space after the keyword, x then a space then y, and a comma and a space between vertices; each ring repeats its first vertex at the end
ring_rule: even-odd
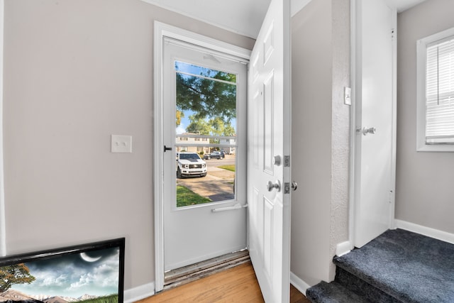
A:
POLYGON ((0 302, 123 302, 124 251, 118 238, 0 258, 0 302))

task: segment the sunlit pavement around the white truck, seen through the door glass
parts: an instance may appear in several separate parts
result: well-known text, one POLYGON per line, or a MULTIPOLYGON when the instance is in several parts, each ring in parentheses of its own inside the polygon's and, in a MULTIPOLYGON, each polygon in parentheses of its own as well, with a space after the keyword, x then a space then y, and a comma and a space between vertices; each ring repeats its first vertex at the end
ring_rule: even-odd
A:
POLYGON ((235 156, 226 155, 225 159, 205 160, 207 167, 206 177, 189 177, 177 179, 177 185, 191 189, 196 194, 208 197, 211 201, 233 199, 233 182, 235 172, 218 168, 221 165, 235 164, 235 156))

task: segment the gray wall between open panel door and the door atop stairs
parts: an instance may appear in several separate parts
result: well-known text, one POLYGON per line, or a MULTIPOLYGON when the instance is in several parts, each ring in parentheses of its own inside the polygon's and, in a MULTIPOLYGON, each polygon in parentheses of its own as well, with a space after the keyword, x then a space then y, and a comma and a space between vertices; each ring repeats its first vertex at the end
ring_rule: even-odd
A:
POLYGON ((350 81, 348 0, 311 1, 292 18, 292 272, 331 280, 348 240, 350 81))

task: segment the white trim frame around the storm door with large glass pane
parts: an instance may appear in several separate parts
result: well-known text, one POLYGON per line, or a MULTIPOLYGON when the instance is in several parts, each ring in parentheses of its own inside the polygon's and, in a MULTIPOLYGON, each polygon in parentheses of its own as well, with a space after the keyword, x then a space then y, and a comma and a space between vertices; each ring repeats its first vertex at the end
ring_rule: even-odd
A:
POLYGON ((204 48, 216 50, 229 55, 234 55, 245 60, 250 58, 250 50, 240 48, 204 35, 192 33, 182 28, 170 26, 155 21, 154 23, 154 147, 153 147, 153 178, 154 178, 154 203, 155 203, 155 292, 164 288, 164 207, 163 197, 163 146, 162 141, 162 38, 169 37, 187 43, 199 45, 204 48))

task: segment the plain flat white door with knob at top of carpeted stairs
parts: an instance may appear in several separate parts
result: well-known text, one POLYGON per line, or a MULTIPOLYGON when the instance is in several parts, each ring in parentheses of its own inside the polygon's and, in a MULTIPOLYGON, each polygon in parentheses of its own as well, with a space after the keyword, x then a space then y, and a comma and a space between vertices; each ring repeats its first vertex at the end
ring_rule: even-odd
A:
POLYGON ((392 228, 395 180, 395 16, 382 0, 356 6, 355 236, 392 228))

